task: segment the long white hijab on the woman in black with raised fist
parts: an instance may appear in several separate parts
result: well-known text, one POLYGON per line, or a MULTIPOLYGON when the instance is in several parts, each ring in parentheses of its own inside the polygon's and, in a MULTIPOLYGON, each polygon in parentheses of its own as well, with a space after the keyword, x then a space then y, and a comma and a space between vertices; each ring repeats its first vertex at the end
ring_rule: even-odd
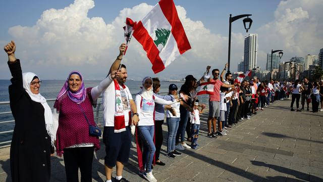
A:
POLYGON ((27 94, 30 96, 31 100, 37 103, 40 103, 44 108, 45 126, 46 126, 47 133, 51 139, 51 145, 53 146, 54 140, 56 139, 56 131, 54 130, 54 118, 51 113, 51 109, 48 106, 47 101, 44 97, 42 97, 40 94, 33 94, 30 90, 30 82, 35 76, 37 75, 31 72, 23 73, 22 74, 23 87, 25 88, 27 94))

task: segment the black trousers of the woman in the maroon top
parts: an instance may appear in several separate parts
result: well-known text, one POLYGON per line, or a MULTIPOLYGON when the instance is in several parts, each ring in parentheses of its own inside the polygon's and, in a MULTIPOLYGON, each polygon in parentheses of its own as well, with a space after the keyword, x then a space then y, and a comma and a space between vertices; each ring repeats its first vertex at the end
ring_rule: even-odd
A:
POLYGON ((92 181, 92 161, 94 147, 76 147, 64 149, 64 163, 67 182, 79 181, 79 168, 81 182, 92 181))

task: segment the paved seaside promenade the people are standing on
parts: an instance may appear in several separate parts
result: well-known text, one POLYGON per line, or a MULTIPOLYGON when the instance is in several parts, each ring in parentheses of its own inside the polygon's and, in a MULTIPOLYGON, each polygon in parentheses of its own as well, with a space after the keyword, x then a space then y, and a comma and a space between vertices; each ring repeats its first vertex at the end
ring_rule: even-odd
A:
MULTIPOLYGON (((166 166, 154 166, 154 176, 158 181, 323 181, 323 112, 291 112, 290 102, 275 102, 218 139, 206 137, 205 113, 198 140, 201 147, 185 150, 176 159, 165 155, 164 124, 160 159, 166 166)), ((101 144, 93 160, 93 181, 105 179, 104 154, 101 144)), ((136 156, 132 147, 123 176, 145 181, 138 175, 136 156)), ((0 181, 11 181, 9 163, 9 147, 0 149, 0 181)), ((51 181, 65 181, 63 159, 52 157, 51 166, 51 181)))

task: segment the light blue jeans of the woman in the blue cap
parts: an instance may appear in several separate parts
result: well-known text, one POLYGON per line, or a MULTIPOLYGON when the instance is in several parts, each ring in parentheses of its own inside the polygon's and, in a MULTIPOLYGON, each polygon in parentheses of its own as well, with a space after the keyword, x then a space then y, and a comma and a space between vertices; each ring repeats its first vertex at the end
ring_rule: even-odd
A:
POLYGON ((167 137, 167 153, 170 153, 175 150, 175 138, 178 125, 181 118, 168 117, 166 118, 167 128, 168 128, 168 137, 167 137))

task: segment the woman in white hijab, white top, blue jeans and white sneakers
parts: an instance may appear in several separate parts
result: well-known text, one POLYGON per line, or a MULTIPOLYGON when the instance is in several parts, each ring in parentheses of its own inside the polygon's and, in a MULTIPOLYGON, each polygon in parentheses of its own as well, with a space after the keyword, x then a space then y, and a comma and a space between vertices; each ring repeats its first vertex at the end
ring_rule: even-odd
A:
POLYGON ((151 164, 156 151, 154 145, 154 108, 155 103, 161 105, 171 105, 179 102, 179 99, 166 101, 154 97, 152 92, 152 78, 147 76, 142 80, 142 90, 136 95, 137 113, 139 122, 137 124, 137 153, 139 174, 148 181, 157 181, 152 175, 151 164), (142 150, 143 148, 143 150, 142 150))

